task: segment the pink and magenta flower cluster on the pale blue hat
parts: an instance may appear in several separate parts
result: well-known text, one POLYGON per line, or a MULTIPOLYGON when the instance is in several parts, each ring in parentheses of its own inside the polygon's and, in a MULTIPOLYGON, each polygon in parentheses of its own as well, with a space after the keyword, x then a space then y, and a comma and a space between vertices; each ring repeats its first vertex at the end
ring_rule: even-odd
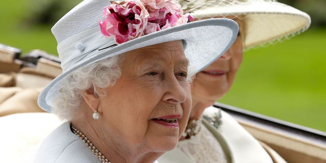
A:
POLYGON ((101 33, 115 36, 117 44, 194 19, 183 14, 176 0, 112 1, 103 15, 105 19, 99 21, 101 33))

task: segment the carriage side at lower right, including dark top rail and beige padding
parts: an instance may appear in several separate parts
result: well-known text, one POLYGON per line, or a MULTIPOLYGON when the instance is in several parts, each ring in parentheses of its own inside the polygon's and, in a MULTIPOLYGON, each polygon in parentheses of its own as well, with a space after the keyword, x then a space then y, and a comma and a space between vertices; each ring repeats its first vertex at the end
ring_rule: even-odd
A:
MULTIPOLYGON (((251 133, 273 158, 278 153, 293 163, 326 163, 326 133, 275 118, 259 115, 227 104, 214 104, 228 112, 251 133)), ((275 161, 278 162, 278 161, 275 161)))

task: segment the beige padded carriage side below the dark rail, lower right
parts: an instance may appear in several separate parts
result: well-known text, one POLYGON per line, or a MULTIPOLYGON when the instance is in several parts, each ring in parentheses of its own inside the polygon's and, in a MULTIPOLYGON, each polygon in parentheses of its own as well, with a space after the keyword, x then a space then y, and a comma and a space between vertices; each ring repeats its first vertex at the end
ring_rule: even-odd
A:
POLYGON ((309 139, 299 133, 293 134, 246 119, 236 118, 236 120, 257 140, 264 142, 261 144, 267 152, 269 152, 268 148, 273 148, 287 162, 326 162, 326 143, 324 140, 309 139))

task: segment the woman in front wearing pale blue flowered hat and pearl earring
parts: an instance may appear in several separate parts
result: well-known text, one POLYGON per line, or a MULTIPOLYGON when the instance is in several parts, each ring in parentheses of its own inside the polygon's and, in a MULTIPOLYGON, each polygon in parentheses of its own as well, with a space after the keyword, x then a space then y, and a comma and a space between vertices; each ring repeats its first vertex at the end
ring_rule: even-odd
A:
POLYGON ((238 33, 230 19, 186 23, 175 0, 111 3, 83 1, 52 28, 63 73, 38 103, 67 122, 34 162, 154 162, 184 131, 189 78, 238 33))

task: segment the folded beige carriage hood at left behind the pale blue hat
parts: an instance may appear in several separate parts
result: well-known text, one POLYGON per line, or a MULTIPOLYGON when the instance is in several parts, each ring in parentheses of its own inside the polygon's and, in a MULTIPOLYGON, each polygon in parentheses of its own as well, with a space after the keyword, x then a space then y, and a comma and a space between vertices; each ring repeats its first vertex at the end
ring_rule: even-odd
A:
MULTIPOLYGON (((30 53, 45 52, 33 50, 30 53)), ((0 116, 43 112, 37 105, 38 95, 60 73, 60 63, 40 58, 36 66, 26 66, 23 61, 17 59, 16 53, 1 49, 0 116)))

